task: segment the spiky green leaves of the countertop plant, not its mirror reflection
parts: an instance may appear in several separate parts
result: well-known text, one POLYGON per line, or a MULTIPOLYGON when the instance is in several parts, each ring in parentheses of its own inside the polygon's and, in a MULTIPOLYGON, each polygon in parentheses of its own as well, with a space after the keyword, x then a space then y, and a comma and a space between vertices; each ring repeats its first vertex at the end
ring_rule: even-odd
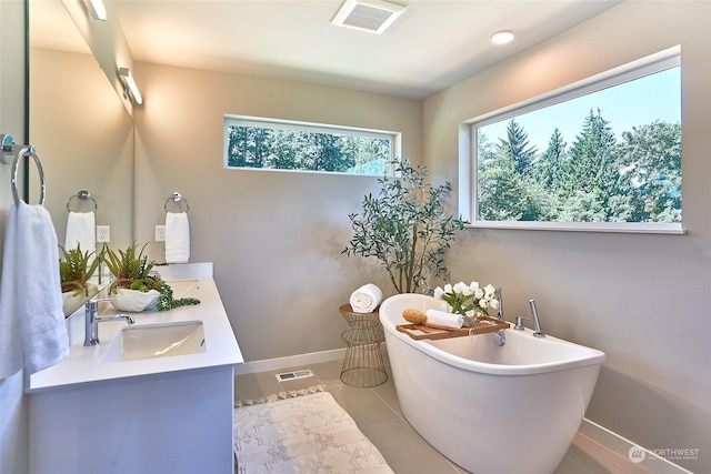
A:
POLYGON ((144 293, 160 289, 160 278, 150 275, 153 262, 149 262, 148 256, 143 255, 147 245, 148 243, 143 244, 138 254, 137 244, 130 245, 126 252, 119 250, 118 254, 107 248, 106 264, 111 274, 116 276, 116 281, 110 286, 111 293, 116 293, 120 288, 139 290, 144 293))

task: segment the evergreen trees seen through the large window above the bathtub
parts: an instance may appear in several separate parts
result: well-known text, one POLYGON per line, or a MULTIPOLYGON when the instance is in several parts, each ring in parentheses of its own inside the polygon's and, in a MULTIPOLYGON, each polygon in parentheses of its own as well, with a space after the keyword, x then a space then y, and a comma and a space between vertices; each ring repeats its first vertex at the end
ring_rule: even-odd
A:
POLYGON ((681 124, 614 135, 590 110, 571 147, 554 129, 540 154, 514 120, 507 140, 478 137, 479 218, 492 221, 681 222, 681 124))

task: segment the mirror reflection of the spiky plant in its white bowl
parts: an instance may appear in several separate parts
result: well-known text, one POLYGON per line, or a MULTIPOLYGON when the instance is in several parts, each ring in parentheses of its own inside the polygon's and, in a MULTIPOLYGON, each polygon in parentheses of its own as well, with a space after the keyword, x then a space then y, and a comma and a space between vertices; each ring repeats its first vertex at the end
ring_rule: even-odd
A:
POLYGON ((94 252, 82 252, 78 243, 76 249, 67 250, 59 245, 62 259, 59 260, 59 282, 62 289, 62 309, 64 315, 74 312, 98 288, 89 280, 99 265, 99 259, 91 259, 94 252))

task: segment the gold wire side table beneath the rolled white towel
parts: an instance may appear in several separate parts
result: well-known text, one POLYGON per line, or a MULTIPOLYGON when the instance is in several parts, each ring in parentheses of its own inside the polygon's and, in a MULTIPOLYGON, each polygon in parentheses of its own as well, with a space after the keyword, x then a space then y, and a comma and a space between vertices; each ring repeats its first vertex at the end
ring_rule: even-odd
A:
POLYGON ((348 329, 341 333, 346 342, 346 359, 341 369, 341 381, 350 386, 378 386, 388 380, 385 363, 380 344, 385 334, 380 324, 378 310, 372 313, 357 313, 350 304, 339 307, 348 322, 348 329))

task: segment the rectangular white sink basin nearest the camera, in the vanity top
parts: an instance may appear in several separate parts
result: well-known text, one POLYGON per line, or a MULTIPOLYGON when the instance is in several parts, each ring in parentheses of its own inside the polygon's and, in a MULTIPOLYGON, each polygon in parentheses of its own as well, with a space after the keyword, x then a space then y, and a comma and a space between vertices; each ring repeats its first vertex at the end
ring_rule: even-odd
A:
POLYGON ((202 321, 127 326, 113 339, 102 363, 204 352, 202 321))

